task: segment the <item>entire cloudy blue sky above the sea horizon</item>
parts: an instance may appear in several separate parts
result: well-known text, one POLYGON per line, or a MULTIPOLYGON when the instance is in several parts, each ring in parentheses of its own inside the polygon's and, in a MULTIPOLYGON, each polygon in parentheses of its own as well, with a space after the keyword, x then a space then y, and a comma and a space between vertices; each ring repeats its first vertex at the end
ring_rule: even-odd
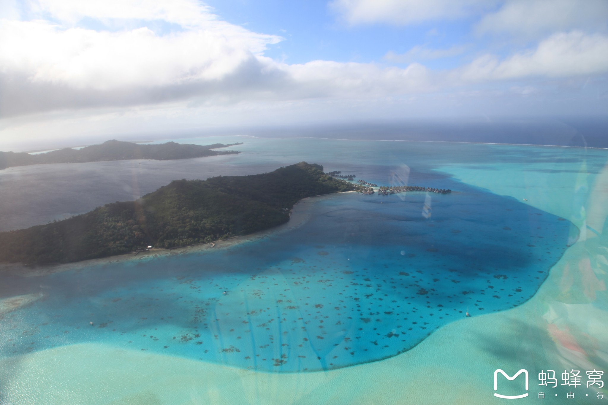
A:
POLYGON ((0 150, 146 131, 606 117, 606 0, 5 0, 0 150))

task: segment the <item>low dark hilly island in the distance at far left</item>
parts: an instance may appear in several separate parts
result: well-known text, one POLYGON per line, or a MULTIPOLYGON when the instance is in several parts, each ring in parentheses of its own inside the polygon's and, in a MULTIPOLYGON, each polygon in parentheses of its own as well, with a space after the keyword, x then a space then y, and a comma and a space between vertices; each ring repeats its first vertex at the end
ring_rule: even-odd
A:
POLYGON ((0 170, 13 166, 46 163, 86 163, 131 159, 173 160, 240 153, 238 151, 212 150, 235 145, 243 145, 243 143, 189 145, 167 142, 159 145, 139 145, 133 142, 111 140, 100 145, 85 146, 82 149, 64 148, 35 155, 26 152, 0 152, 0 170))

